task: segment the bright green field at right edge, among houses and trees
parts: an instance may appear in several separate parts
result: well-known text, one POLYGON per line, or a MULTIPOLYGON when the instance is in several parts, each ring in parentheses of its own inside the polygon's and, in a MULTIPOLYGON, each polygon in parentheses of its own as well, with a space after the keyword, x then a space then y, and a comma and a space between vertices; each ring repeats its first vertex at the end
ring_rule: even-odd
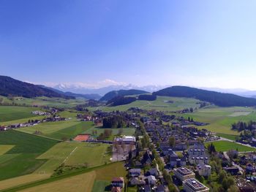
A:
MULTIPOLYGON (((228 141, 217 141, 212 142, 214 147, 217 151, 228 151, 228 150, 236 150, 238 149, 239 152, 246 152, 246 151, 255 151, 256 148, 254 147, 247 147, 244 145, 240 145, 236 142, 228 142, 228 141)), ((206 146, 211 145, 211 142, 206 143, 206 146)))

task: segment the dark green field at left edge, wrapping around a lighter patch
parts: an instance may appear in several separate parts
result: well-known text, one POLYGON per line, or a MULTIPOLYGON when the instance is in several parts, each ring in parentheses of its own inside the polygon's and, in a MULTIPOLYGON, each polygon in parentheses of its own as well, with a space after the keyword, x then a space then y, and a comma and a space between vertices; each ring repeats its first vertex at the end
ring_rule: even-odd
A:
POLYGON ((0 180, 5 180, 30 174, 42 166, 45 160, 37 160, 37 156, 56 145, 56 141, 10 130, 0 132, 0 145, 15 145, 0 155, 0 180))

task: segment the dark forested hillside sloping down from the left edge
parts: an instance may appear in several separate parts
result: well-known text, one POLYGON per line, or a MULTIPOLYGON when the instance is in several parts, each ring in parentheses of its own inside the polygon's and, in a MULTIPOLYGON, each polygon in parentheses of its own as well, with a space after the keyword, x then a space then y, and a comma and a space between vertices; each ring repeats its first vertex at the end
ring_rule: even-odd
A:
POLYGON ((61 97, 73 99, 71 96, 64 96, 61 93, 42 88, 39 85, 33 85, 28 82, 22 82, 11 77, 0 75, 0 95, 1 96, 23 96, 32 98, 36 96, 61 97))

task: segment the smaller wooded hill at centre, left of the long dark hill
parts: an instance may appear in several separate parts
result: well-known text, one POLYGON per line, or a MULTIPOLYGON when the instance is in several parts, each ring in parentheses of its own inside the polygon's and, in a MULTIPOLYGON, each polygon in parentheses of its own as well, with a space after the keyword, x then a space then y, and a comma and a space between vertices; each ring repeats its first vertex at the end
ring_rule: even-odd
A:
POLYGON ((130 90, 119 90, 119 91, 110 91, 105 94, 105 96, 102 96, 100 101, 110 101, 111 99, 115 98, 116 96, 134 96, 134 95, 140 95, 148 93, 146 91, 142 90, 136 90, 136 89, 130 89, 130 90))

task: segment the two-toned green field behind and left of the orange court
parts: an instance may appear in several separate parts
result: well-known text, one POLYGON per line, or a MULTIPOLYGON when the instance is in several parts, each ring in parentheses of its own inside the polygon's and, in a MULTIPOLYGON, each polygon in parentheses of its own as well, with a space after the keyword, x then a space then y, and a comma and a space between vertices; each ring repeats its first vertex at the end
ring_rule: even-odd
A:
POLYGON ((36 131, 39 131, 42 136, 66 140, 72 139, 92 127, 94 127, 94 123, 91 121, 84 122, 72 119, 59 122, 41 123, 37 126, 19 128, 18 131, 23 131, 29 134, 34 134, 36 131))

